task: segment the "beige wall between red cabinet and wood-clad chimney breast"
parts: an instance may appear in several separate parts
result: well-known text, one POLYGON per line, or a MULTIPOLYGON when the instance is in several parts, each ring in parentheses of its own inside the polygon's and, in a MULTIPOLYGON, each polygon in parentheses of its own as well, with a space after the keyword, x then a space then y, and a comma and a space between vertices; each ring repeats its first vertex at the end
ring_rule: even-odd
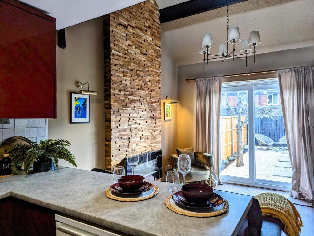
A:
MULTIPOLYGON (((49 119, 49 138, 66 139, 79 169, 105 166, 104 48, 102 17, 66 29, 66 48, 57 46, 57 119, 49 119), (90 123, 70 123, 70 92, 89 82, 90 123)), ((84 86, 87 90, 87 87, 84 86)), ((62 166, 70 166, 63 161, 62 166)))

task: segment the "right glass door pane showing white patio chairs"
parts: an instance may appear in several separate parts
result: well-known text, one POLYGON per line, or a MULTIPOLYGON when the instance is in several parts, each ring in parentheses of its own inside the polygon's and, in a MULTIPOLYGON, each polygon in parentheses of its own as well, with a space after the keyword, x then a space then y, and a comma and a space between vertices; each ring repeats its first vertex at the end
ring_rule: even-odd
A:
POLYGON ((279 93, 279 88, 254 90, 255 173, 256 179, 291 182, 279 93))

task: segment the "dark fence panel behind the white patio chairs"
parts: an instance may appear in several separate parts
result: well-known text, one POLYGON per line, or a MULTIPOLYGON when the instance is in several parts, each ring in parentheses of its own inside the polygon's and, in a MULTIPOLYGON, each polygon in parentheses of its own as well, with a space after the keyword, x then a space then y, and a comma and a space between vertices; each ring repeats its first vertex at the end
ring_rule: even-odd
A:
MULTIPOLYGON (((284 130, 284 121, 283 117, 273 118, 254 118, 254 131, 255 134, 263 134, 271 139, 274 142, 278 142, 278 140, 286 135, 284 130)), ((255 144, 257 145, 257 140, 255 139, 255 144)))

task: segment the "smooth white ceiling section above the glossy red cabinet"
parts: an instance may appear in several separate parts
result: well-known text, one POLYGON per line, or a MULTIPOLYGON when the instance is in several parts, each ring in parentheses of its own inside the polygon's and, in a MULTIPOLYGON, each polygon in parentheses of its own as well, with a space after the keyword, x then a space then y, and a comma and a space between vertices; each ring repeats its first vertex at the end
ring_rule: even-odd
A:
POLYGON ((144 0, 20 0, 57 20, 57 30, 141 3, 144 0))

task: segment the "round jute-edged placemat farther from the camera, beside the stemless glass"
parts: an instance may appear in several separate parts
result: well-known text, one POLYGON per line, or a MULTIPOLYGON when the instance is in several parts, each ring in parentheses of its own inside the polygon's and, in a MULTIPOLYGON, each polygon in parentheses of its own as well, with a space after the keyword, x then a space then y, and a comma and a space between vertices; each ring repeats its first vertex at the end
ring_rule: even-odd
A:
POLYGON ((110 191, 110 188, 106 189, 105 194, 110 199, 120 202, 138 202, 155 197, 159 193, 159 188, 154 184, 152 185, 153 187, 149 191, 142 192, 138 195, 130 195, 129 197, 122 194, 113 193, 110 191))

